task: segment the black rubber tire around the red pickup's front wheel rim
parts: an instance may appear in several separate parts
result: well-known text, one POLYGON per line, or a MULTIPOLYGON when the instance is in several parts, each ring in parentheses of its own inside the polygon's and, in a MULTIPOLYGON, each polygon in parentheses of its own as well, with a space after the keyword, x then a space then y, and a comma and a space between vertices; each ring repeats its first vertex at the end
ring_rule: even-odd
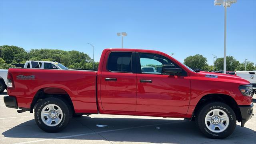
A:
MULTIPOLYGON (((200 131, 208 138, 222 139, 228 137, 232 134, 236 128, 236 114, 230 106, 222 102, 211 102, 202 106, 199 112, 196 114, 196 125, 200 131), (211 110, 218 109, 223 110, 228 115, 229 124, 228 127, 223 132, 212 132, 207 128, 205 118, 208 112, 211 110)), ((217 128, 218 129, 218 128, 217 128)))

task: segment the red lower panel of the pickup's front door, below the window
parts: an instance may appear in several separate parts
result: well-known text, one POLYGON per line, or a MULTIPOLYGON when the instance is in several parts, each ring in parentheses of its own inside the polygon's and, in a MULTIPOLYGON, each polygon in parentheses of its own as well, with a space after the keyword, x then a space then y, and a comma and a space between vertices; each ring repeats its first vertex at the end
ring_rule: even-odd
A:
POLYGON ((137 74, 137 84, 136 112, 186 114, 190 100, 190 80, 186 77, 137 74))

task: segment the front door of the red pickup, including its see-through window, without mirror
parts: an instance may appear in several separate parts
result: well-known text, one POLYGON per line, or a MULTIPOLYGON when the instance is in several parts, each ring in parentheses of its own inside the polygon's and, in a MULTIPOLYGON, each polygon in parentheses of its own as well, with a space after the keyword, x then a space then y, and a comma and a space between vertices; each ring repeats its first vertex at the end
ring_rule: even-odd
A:
POLYGON ((188 76, 162 74, 163 64, 178 67, 164 56, 150 53, 138 55, 142 70, 137 74, 136 112, 186 114, 190 100, 188 76))

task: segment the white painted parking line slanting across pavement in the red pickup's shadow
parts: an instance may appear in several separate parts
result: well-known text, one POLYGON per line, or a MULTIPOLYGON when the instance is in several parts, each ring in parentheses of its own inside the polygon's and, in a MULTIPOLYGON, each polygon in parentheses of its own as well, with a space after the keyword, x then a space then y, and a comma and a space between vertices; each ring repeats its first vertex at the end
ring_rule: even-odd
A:
POLYGON ((42 140, 32 140, 32 141, 27 141, 27 142, 19 142, 19 143, 15 143, 15 144, 36 143, 36 142, 43 142, 43 141, 47 141, 47 140, 72 138, 72 137, 77 137, 77 136, 86 136, 86 135, 90 135, 90 134, 100 134, 100 133, 104 133, 104 132, 116 132, 116 131, 120 131, 120 130, 130 130, 130 129, 134 129, 134 128, 144 128, 144 127, 160 126, 160 125, 164 125, 164 124, 174 124, 174 123, 179 123, 179 122, 167 122, 167 123, 163 123, 163 124, 151 124, 151 125, 146 125, 146 126, 136 126, 136 127, 132 127, 132 128, 120 128, 120 129, 116 129, 116 130, 104 130, 104 131, 100 131, 100 132, 90 132, 90 133, 76 134, 76 135, 70 135, 70 136, 60 136, 60 137, 56 137, 56 138, 45 138, 45 139, 42 139, 42 140))

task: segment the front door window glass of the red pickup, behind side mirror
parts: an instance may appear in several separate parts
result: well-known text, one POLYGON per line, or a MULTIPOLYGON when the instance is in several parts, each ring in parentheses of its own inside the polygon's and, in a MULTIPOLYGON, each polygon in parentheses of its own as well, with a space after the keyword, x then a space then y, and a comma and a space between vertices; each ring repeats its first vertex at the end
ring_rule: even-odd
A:
POLYGON ((158 54, 140 53, 139 56, 141 73, 144 74, 162 74, 164 64, 176 67, 169 59, 158 54))

